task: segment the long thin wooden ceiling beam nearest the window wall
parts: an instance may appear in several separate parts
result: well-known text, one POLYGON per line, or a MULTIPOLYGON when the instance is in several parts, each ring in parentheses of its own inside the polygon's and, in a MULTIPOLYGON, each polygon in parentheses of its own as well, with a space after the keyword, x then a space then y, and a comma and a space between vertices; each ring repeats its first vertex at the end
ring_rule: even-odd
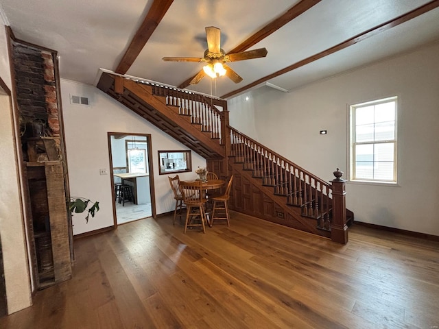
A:
POLYGON ((439 7, 439 0, 433 0, 429 3, 426 3, 425 5, 422 5, 411 12, 407 12, 406 14, 403 14, 401 16, 396 17, 396 19, 392 19, 390 21, 387 21, 381 25, 377 25, 376 27, 372 27, 371 29, 368 29, 365 32, 362 32, 360 34, 357 34, 356 36, 353 36, 353 38, 350 38, 348 40, 345 40, 338 45, 335 45, 331 48, 328 48, 324 51, 321 51, 320 53, 316 53, 313 56, 310 56, 308 58, 305 58, 304 60, 300 60, 299 62, 296 62, 292 65, 289 65, 285 67, 285 69, 281 69, 279 71, 276 71, 270 75, 267 75, 265 77, 261 77, 261 79, 256 80, 255 82, 252 82, 251 84, 248 84, 247 86, 244 86, 242 88, 239 88, 237 90, 233 90, 230 93, 227 93, 226 95, 222 95, 220 98, 227 99, 230 96, 237 95, 239 93, 244 92, 247 89, 250 89, 254 86, 257 86, 259 84, 262 84, 263 82, 266 82, 270 79, 273 79, 274 77, 278 77, 279 75, 283 75, 289 71, 293 71, 295 69, 298 69, 301 66, 304 66, 306 64, 309 64, 311 62, 314 62, 316 60, 320 60, 320 58, 324 58, 326 56, 331 55, 331 53, 335 53, 336 51, 340 51, 346 47, 352 46, 357 44, 360 41, 366 40, 367 38, 370 38, 371 36, 375 36, 381 32, 387 31, 388 29, 391 29, 392 27, 398 26, 402 23, 405 23, 407 21, 410 21, 411 19, 414 19, 422 14, 425 14, 426 12, 429 12, 430 10, 433 10, 435 8, 439 7))

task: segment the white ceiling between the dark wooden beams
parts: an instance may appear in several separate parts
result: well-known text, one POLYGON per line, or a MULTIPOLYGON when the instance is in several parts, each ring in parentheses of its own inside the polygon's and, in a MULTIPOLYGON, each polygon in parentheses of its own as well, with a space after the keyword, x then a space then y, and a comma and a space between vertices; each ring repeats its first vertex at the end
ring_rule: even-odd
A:
MULTIPOLYGON (((235 84, 220 77, 213 94, 233 92, 430 1, 322 0, 250 48, 266 47, 266 58, 230 63, 244 80, 235 84)), ((60 76, 86 84, 97 82, 99 68, 115 71, 152 2, 0 0, 3 17, 16 38, 58 51, 60 76)), ((178 86, 198 73, 203 64, 163 62, 161 58, 202 57, 206 49, 204 27, 222 30, 221 46, 228 52, 298 2, 175 0, 127 75, 178 86)), ((439 8, 435 8, 267 82, 291 90, 438 40, 439 8)), ((210 94, 211 80, 204 77, 188 89, 210 94)))

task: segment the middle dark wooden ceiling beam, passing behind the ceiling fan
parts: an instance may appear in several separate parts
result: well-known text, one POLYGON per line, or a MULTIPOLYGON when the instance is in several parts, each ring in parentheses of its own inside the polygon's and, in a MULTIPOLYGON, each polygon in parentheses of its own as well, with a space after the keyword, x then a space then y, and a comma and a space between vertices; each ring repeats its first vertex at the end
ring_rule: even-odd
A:
MULTIPOLYGON (((267 25, 265 25, 262 29, 260 29, 258 32, 250 36, 247 40, 241 43, 241 45, 238 45, 237 47, 230 50, 228 53, 239 53, 241 51, 245 51, 249 49, 250 47, 256 45, 259 41, 263 40, 264 38, 267 38, 270 36, 270 34, 276 32, 278 29, 283 27, 283 25, 289 23, 293 19, 295 19, 300 14, 303 14, 309 8, 313 7, 313 5, 316 5, 322 0, 302 0, 296 5, 294 5, 292 8, 289 8, 285 14, 282 14, 281 16, 278 16, 274 21, 271 21, 267 25)), ((189 86, 190 82, 193 80, 193 77, 189 77, 189 79, 185 80, 185 82, 182 82, 178 88, 184 89, 187 86, 189 86)))

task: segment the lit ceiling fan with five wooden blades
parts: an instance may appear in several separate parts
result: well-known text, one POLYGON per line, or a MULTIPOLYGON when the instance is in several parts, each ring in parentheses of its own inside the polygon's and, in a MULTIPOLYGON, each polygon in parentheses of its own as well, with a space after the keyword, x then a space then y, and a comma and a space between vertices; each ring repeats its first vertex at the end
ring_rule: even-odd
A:
POLYGON ((212 78, 226 75, 235 84, 242 81, 233 69, 230 69, 225 63, 237 62, 239 60, 251 60, 252 58, 261 58, 267 56, 267 49, 260 48, 239 53, 224 53, 221 49, 221 30, 214 26, 206 27, 207 49, 204 51, 204 57, 164 57, 162 60, 167 62, 205 62, 206 65, 191 80, 190 84, 198 84, 205 75, 212 78))

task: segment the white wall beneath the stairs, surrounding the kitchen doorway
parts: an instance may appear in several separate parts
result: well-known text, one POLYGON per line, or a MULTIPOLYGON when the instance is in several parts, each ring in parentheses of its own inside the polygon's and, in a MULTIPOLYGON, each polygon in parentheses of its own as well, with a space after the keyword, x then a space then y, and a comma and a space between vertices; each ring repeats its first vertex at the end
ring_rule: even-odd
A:
MULTIPOLYGON (((73 234, 81 234, 113 225, 110 175, 99 169, 110 167, 107 132, 151 134, 152 165, 156 212, 174 210, 175 200, 169 175, 158 174, 158 150, 187 149, 125 106, 94 86, 61 80, 62 110, 69 165, 70 193, 99 201, 100 210, 86 224, 84 216, 73 217, 73 234), (88 97, 90 106, 71 104, 70 95, 88 97)), ((205 167, 206 160, 192 153, 192 168, 205 167)), ((180 179, 195 179, 195 173, 179 173, 180 179)), ((171 175, 174 177, 174 175, 171 175)))

